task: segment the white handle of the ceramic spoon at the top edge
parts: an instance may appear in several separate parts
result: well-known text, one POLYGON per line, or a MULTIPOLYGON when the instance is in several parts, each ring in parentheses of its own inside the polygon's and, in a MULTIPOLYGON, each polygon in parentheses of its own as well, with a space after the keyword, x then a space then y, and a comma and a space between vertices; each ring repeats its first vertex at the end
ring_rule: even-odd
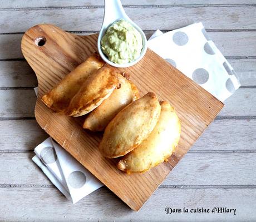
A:
POLYGON ((108 26, 118 19, 127 19, 124 8, 120 0, 105 0, 104 23, 103 26, 108 26))

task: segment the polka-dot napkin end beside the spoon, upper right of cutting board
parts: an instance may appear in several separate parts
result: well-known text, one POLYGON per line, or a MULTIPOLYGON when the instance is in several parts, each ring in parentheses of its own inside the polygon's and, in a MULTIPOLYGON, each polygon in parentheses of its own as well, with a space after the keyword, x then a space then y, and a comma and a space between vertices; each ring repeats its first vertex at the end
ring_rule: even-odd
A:
POLYGON ((240 87, 234 69, 201 22, 164 34, 157 30, 148 47, 222 102, 240 87))

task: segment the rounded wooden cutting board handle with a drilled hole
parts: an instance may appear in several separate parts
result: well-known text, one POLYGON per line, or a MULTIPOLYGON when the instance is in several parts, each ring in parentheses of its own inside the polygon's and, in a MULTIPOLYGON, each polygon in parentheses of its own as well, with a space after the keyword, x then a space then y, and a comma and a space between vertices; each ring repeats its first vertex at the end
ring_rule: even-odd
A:
POLYGON ((56 80, 61 80, 97 51, 95 40, 96 34, 77 36, 52 24, 38 24, 29 28, 22 37, 21 50, 36 73, 39 95, 50 90, 56 80))

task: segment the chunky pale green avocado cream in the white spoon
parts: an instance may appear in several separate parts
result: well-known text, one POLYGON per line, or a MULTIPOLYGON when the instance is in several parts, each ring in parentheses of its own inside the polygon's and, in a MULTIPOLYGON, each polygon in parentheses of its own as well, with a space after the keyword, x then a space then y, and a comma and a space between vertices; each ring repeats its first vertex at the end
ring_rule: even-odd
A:
POLYGON ((101 49, 114 63, 132 62, 140 56, 142 37, 136 28, 121 19, 107 29, 101 40, 101 49))

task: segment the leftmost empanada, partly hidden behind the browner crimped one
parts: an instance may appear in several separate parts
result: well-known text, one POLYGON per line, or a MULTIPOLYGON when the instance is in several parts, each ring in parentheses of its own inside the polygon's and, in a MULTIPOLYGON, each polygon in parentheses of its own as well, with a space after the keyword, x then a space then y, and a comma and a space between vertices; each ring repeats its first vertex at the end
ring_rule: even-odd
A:
POLYGON ((104 66, 104 62, 96 53, 68 73, 50 92, 42 97, 46 106, 56 112, 61 112, 68 107, 71 98, 80 90, 93 72, 104 66))

